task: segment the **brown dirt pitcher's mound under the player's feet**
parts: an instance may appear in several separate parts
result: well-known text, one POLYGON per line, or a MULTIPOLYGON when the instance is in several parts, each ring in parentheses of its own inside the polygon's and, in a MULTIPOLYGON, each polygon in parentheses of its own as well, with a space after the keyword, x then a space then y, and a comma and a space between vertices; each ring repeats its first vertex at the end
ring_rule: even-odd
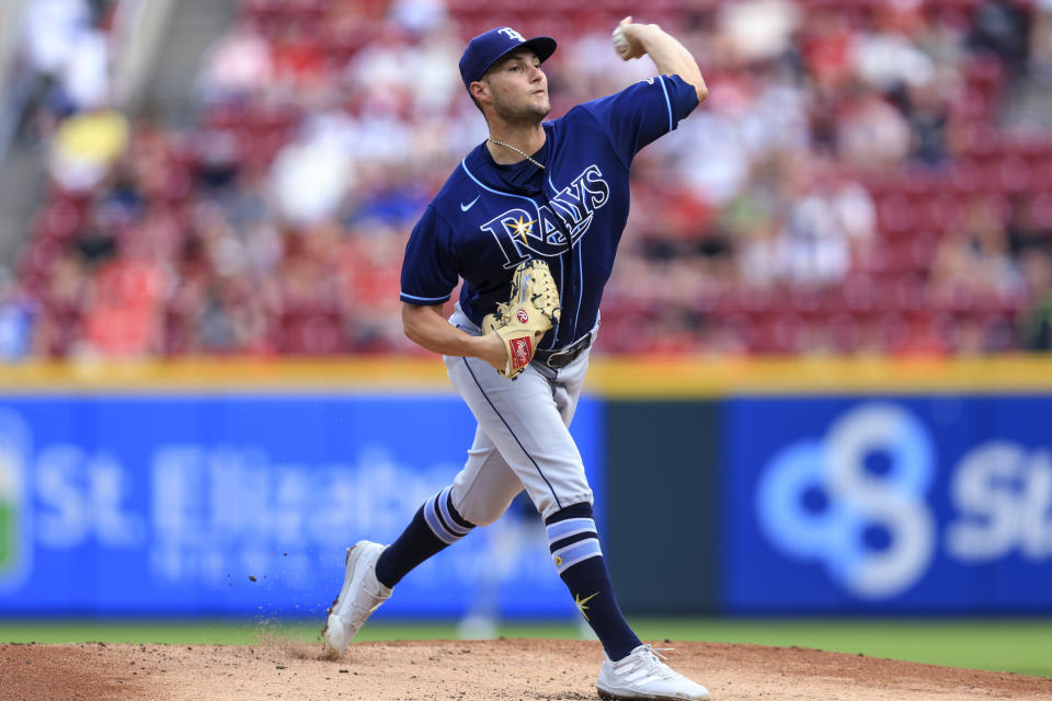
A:
MULTIPOLYGON (((1052 699, 1052 679, 936 667, 798 647, 672 647, 670 664, 718 701, 1052 699)), ((595 642, 358 643, 324 659, 321 643, 254 646, 0 644, 5 701, 313 701, 595 699, 595 642)))

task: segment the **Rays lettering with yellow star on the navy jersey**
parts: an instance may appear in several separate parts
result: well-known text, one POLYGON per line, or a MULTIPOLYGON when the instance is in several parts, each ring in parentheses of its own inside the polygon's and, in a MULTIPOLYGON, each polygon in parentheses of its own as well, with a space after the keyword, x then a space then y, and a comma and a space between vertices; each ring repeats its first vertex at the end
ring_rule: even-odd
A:
POLYGON ((551 207, 538 205, 535 212, 514 207, 481 225, 481 229, 496 240, 504 253, 504 267, 510 269, 534 255, 561 255, 567 250, 565 230, 570 231, 570 245, 576 245, 591 228, 595 210, 609 198, 609 184, 592 164, 549 199, 551 207))

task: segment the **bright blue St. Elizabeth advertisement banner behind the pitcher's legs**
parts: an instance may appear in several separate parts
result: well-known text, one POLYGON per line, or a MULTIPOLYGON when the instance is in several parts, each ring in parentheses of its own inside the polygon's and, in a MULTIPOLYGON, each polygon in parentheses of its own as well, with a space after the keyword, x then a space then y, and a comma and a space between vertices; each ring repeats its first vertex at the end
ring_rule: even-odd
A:
MULTIPOLYGON (((602 504, 602 405, 573 433, 602 504)), ((466 458, 453 395, 0 399, 0 614, 322 616, 345 548, 390 542, 466 458)), ((572 616, 522 509, 399 584, 379 617, 572 616)))

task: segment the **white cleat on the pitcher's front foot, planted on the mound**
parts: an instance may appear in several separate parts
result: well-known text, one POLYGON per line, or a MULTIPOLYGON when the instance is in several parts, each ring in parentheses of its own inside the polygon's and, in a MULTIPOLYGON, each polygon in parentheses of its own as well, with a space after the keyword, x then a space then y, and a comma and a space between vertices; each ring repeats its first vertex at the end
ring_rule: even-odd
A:
POLYGON ((605 659, 595 688, 607 700, 705 701, 709 690, 661 662, 664 655, 650 645, 640 645, 624 659, 605 659))

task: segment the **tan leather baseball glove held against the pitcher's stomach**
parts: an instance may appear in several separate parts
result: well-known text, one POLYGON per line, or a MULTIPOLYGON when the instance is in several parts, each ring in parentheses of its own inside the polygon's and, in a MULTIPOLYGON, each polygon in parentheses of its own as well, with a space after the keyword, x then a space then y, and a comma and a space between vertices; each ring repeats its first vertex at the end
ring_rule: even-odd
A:
POLYGON ((516 378, 534 359, 536 334, 559 321, 559 289, 544 261, 525 261, 512 277, 512 298, 482 319, 483 333, 493 332, 504 341, 507 364, 501 375, 516 378))

